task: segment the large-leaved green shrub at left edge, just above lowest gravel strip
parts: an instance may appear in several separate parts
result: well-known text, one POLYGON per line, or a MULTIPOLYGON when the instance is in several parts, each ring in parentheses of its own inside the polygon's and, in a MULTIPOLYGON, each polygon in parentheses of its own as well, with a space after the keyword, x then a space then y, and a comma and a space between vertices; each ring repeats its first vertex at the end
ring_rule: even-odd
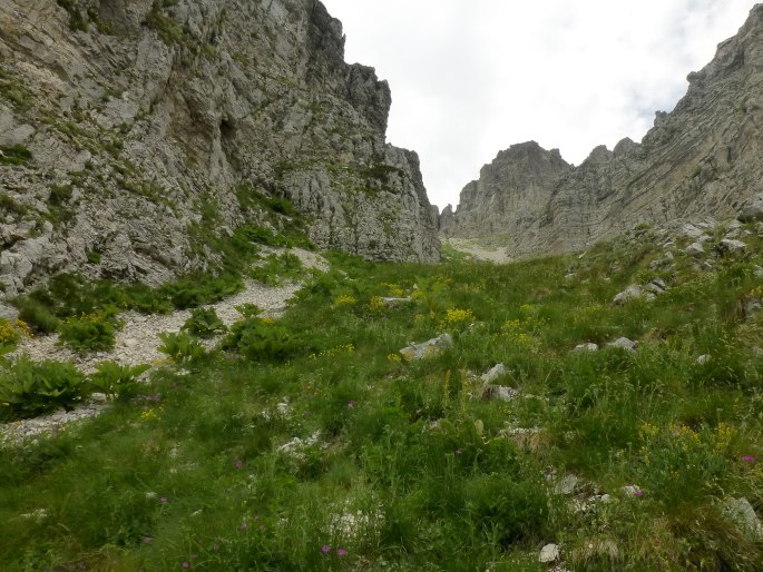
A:
POLYGON ((56 407, 71 408, 86 395, 85 375, 72 364, 19 358, 0 371, 0 415, 33 417, 56 407))

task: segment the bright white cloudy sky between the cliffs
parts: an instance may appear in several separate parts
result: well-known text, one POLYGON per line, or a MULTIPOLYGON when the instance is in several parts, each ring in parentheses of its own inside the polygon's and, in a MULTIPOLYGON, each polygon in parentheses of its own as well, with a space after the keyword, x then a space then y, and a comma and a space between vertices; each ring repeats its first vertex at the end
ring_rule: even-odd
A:
POLYGON ((322 0, 345 60, 390 82, 387 139, 415 150, 442 209, 499 150, 535 140, 579 165, 640 141, 752 0, 322 0))

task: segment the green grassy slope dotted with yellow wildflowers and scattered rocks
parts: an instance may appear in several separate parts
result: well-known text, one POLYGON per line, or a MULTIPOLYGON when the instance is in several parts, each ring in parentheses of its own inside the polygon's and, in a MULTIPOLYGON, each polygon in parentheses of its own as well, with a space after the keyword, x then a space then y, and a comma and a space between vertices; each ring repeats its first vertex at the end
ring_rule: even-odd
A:
POLYGON ((678 255, 662 274, 648 233, 510 266, 334 256, 280 325, 252 318, 189 375, 156 373, 160 401, 0 451, 3 570, 546 570, 547 542, 570 570, 756 570, 763 542, 723 511, 763 509, 747 241, 713 272, 678 255), (655 276, 656 300, 609 305, 655 276), (400 362, 442 332, 451 349, 400 362), (619 336, 638 352, 571 352, 619 336), (499 362, 520 397, 481 401, 469 371, 499 362), (576 511, 551 472, 612 502, 576 511))

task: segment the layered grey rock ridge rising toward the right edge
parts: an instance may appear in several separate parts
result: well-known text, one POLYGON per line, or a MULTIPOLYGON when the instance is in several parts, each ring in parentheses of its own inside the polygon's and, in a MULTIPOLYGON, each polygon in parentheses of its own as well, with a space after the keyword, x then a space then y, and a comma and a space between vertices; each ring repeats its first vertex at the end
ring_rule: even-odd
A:
POLYGON ((502 196, 516 206, 507 215, 475 203, 483 169, 462 191, 453 220, 441 221, 443 233, 485 235, 479 213, 489 213, 489 233, 509 234, 509 252, 527 256, 585 248, 644 221, 738 215, 763 193, 763 4, 688 81, 686 96, 671 114, 657 114, 642 144, 598 147, 579 167, 559 171, 532 221, 516 213, 540 208, 541 199, 510 184, 502 196))

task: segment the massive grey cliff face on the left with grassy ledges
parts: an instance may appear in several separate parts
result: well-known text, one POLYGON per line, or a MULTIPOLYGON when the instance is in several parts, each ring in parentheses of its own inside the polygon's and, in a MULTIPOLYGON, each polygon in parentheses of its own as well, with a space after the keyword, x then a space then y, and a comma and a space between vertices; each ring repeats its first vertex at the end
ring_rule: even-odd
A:
POLYGON ((204 268, 189 228, 256 221, 252 193, 291 199, 320 247, 439 259, 390 89, 343 48, 317 0, 0 2, 1 289, 204 268))

